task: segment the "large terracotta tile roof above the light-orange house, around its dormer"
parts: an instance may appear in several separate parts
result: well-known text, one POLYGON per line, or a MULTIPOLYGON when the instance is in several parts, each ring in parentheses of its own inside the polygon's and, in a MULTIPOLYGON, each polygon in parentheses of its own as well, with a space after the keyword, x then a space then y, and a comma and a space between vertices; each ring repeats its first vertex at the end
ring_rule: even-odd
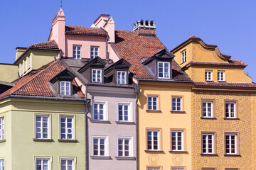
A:
MULTIPOLYGON (((119 57, 132 64, 129 70, 137 79, 152 79, 139 61, 165 48, 156 35, 142 35, 130 30, 115 30, 115 44, 112 47, 119 57)), ((173 77, 176 80, 190 80, 174 60, 173 77)))

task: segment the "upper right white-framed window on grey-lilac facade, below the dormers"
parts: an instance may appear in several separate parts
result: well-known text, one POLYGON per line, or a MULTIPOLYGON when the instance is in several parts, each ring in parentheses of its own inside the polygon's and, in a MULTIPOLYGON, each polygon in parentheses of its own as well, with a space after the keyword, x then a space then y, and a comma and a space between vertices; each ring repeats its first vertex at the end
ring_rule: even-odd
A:
POLYGON ((129 103, 118 103, 118 121, 131 121, 129 103))

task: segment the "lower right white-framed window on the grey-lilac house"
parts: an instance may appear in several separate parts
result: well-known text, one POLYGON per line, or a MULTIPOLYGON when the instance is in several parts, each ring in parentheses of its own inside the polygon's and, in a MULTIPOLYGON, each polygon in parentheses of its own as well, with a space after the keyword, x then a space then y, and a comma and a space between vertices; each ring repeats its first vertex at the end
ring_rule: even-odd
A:
POLYGON ((118 137, 118 157, 132 157, 131 138, 118 137))

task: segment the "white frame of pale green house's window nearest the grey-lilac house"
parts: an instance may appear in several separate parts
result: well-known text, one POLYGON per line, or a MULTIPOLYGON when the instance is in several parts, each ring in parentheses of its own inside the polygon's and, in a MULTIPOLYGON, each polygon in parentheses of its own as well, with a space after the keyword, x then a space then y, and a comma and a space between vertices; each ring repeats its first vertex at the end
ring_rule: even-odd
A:
POLYGON ((60 115, 60 140, 74 140, 75 139, 75 123, 74 123, 74 116, 71 115, 60 115), (68 123, 70 124, 70 122, 68 122, 68 119, 72 119, 71 120, 71 128, 68 127, 68 123), (65 122, 63 122, 65 124, 65 127, 62 127, 62 121, 61 119, 65 119, 65 122), (65 129, 65 132, 61 132, 62 129, 65 129), (71 132, 68 132, 68 130, 71 130, 71 132), (64 138, 62 138, 62 135, 65 135, 64 138), (71 138, 68 138, 68 135, 71 135, 71 138))

